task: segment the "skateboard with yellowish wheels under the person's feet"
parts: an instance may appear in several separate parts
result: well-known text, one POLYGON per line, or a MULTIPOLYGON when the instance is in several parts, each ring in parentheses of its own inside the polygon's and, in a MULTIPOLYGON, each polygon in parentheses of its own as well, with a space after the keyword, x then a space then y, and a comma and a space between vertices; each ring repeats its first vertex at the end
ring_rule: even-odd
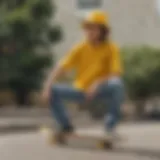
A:
POLYGON ((97 149, 112 150, 114 148, 114 142, 111 140, 106 140, 104 136, 96 136, 91 134, 81 134, 81 133, 71 133, 71 134, 56 134, 53 133, 49 135, 49 143, 59 146, 68 146, 71 141, 76 144, 90 144, 90 146, 97 149), (75 141, 74 141, 75 140, 75 141))

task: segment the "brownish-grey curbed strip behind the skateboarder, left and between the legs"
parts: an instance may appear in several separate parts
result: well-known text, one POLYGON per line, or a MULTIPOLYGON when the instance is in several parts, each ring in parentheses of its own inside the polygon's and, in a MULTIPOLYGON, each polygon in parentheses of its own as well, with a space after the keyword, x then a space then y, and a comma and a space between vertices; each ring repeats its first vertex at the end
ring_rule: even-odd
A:
MULTIPOLYGON (((0 110, 1 112, 1 110, 0 110)), ((76 126, 92 126, 101 123, 90 119, 87 113, 72 113, 76 126)), ((54 121, 46 110, 2 111, 0 114, 0 134, 10 132, 35 131, 41 126, 53 126, 54 121), (3 114, 2 114, 3 113, 3 114)))

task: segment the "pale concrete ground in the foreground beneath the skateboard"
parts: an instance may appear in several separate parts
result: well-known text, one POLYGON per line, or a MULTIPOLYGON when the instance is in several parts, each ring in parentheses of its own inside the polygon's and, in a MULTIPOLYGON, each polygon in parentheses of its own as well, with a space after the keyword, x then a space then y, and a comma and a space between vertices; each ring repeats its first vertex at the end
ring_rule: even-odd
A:
MULTIPOLYGON (((102 135, 102 127, 79 128, 81 134, 102 135)), ((47 130, 32 133, 0 134, 0 160, 160 160, 160 124, 123 124, 118 133, 125 139, 113 151, 83 146, 77 141, 68 147, 47 143, 47 130)))

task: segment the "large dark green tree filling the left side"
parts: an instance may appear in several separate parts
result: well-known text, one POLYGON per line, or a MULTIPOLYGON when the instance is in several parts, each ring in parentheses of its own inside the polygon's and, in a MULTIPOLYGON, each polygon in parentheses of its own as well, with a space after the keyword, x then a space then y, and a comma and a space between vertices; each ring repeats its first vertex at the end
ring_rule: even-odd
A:
POLYGON ((52 0, 0 1, 0 87, 11 88, 19 104, 39 89, 52 63, 51 45, 61 38, 54 13, 52 0))

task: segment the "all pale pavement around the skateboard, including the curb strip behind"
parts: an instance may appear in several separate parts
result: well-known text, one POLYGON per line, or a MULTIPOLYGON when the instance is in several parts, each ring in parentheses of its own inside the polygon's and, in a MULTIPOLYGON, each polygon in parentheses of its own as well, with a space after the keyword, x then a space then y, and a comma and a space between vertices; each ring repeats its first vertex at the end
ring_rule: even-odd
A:
MULTIPOLYGON (((24 113, 24 112, 23 112, 24 113)), ((113 151, 96 148, 89 139, 71 141, 68 146, 49 145, 53 121, 47 114, 32 112, 0 116, 0 160, 160 160, 160 122, 122 123, 117 129, 123 141, 113 151), (7 116, 8 115, 8 116, 7 116)), ((100 121, 87 115, 72 116, 80 135, 103 136, 100 121)))

